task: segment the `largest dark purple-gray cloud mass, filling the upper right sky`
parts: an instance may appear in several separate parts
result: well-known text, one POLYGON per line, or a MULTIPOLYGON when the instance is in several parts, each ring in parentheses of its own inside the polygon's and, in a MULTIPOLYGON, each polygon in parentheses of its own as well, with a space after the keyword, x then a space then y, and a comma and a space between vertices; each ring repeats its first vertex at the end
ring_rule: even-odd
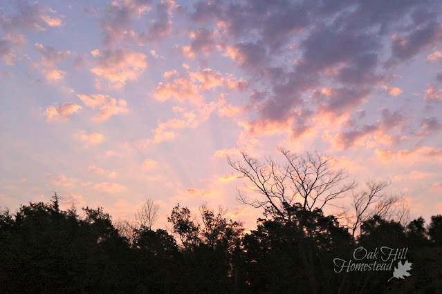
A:
MULTIPOLYGON (((440 41, 434 13, 440 6, 417 0, 198 1, 189 17, 201 26, 225 27, 226 55, 260 85, 250 95, 259 110, 258 124, 286 121, 295 109, 351 114, 388 81, 382 67, 386 44, 391 43, 388 63, 393 65, 440 41), (331 83, 330 95, 321 94, 331 83)), ((384 130, 403 119, 399 112, 382 115, 384 130)), ((367 124, 344 137, 351 142, 376 128, 367 124)))

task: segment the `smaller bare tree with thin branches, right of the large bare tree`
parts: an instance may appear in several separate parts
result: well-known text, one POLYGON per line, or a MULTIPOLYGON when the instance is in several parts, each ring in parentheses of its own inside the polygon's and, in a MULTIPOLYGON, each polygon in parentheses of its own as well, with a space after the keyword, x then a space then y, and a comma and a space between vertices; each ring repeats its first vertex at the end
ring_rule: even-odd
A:
POLYGON ((360 233, 360 225, 374 217, 374 215, 401 223, 408 221, 409 210, 403 202, 403 197, 385 193, 385 188, 389 186, 389 182, 369 180, 365 184, 367 190, 353 194, 355 214, 349 219, 349 227, 353 237, 358 231, 360 233))

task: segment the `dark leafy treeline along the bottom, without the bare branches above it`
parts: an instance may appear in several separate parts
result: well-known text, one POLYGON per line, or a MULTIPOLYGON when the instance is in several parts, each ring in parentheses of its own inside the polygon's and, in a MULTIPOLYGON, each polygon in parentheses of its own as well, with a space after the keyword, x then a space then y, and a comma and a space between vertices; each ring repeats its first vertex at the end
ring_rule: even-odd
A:
POLYGON ((290 220, 258 219, 244 234, 222 209, 201 206, 197 222, 178 205, 168 233, 121 226, 102 208, 61 210, 57 197, 23 205, 0 215, 0 293, 441 293, 441 215, 428 226, 374 215, 352 237, 318 208, 287 209, 290 220), (335 273, 333 259, 359 246, 409 248, 411 276, 335 273))

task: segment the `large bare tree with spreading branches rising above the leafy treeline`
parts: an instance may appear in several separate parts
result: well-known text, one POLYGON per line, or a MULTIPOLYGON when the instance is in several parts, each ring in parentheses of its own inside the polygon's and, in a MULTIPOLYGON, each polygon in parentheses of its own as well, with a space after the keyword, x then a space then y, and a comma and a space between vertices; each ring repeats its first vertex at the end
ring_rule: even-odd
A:
POLYGON ((331 157, 320 153, 297 155, 280 149, 285 164, 279 165, 272 159, 259 161, 241 150, 243 161, 228 157, 228 163, 239 172, 240 178, 252 183, 248 187, 261 197, 249 200, 240 190, 239 200, 256 208, 264 207, 266 213, 290 220, 291 207, 301 203, 306 210, 333 205, 335 199, 345 197, 356 188, 354 181, 347 182, 343 169, 331 167, 331 157))

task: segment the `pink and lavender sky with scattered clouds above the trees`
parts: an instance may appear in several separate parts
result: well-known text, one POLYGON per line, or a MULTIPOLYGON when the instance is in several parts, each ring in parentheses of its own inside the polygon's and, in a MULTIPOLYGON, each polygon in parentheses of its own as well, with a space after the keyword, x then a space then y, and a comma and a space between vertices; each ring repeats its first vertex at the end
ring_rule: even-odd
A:
MULTIPOLYGON (((442 213, 441 1, 1 1, 0 206, 207 203, 256 226, 226 156, 333 157, 442 213)), ((253 195, 250 195, 253 197, 253 195)), ((154 226, 155 227, 155 226, 154 226)))

